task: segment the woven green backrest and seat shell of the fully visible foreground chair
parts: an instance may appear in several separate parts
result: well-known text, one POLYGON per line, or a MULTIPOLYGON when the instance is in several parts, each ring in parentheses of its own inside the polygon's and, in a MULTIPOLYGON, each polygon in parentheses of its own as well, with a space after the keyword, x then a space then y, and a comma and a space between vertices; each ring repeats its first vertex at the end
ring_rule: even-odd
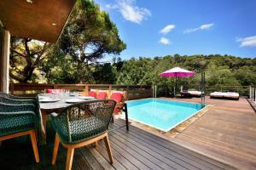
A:
POLYGON ((97 99, 67 106, 57 116, 58 128, 68 133, 62 140, 74 143, 107 131, 115 105, 113 99, 97 99))

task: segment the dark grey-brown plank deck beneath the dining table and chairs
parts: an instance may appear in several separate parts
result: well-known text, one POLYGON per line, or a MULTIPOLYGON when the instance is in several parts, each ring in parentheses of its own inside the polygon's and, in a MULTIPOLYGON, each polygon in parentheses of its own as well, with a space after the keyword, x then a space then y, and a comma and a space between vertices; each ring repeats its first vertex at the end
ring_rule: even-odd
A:
MULTIPOLYGON (((184 149, 166 139, 137 127, 125 130, 125 122, 115 121, 109 132, 113 164, 102 142, 75 150, 73 169, 234 169, 194 151, 184 149)), ((55 133, 48 126, 48 144, 39 147, 40 163, 35 163, 32 146, 26 137, 3 142, 0 147, 0 169, 64 169, 67 150, 60 147, 55 166, 50 160, 55 133)))

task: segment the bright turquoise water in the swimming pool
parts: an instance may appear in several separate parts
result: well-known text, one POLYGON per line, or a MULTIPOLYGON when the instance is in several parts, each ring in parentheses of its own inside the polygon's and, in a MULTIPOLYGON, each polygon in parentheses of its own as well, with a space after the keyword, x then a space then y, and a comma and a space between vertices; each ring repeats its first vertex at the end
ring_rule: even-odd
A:
POLYGON ((127 106, 129 119, 165 132, 201 110, 201 104, 166 99, 132 100, 127 106))

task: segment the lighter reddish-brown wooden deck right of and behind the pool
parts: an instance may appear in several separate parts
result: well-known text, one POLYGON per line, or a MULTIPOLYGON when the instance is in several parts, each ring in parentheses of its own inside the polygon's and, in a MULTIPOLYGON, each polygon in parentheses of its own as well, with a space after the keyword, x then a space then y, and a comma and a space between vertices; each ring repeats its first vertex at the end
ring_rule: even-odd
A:
POLYGON ((247 99, 206 103, 213 107, 172 141, 239 169, 256 169, 256 114, 247 99))

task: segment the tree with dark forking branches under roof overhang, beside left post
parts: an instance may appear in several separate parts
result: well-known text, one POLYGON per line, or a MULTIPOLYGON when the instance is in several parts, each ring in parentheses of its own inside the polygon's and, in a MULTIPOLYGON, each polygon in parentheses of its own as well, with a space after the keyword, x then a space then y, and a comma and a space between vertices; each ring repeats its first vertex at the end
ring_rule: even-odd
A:
POLYGON ((36 82, 35 69, 44 62, 50 44, 30 38, 11 37, 9 75, 18 82, 36 82))

